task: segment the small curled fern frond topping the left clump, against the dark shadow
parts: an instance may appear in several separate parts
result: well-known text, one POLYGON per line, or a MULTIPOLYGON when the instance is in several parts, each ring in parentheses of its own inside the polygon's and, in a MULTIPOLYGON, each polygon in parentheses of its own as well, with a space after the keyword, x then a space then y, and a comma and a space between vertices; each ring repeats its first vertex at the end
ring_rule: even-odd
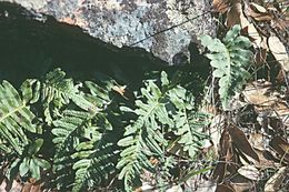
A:
POLYGON ((73 101, 81 109, 94 109, 84 95, 81 95, 79 87, 74 85, 71 78, 66 78, 66 72, 59 68, 50 71, 42 81, 36 79, 26 80, 21 89, 26 97, 31 98, 30 103, 40 100, 43 105, 46 122, 52 122, 52 111, 57 112, 60 108, 73 101))

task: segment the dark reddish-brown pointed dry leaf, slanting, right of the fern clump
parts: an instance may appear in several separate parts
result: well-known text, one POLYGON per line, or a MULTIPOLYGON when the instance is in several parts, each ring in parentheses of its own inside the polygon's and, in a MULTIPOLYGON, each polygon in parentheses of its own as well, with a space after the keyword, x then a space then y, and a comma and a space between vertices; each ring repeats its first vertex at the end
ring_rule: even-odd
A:
POLYGON ((251 144, 249 143, 247 137, 245 133, 235 124, 231 124, 229 128, 229 133, 231 137, 232 142, 236 144, 236 146, 248 156, 260 161, 258 154, 252 149, 251 144))

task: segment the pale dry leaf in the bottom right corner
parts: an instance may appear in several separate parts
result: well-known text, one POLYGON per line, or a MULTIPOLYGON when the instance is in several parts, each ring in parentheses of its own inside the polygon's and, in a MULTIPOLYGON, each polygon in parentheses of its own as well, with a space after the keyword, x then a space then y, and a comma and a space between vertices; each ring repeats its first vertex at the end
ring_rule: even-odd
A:
POLYGON ((289 170, 287 166, 280 168, 265 184, 265 192, 275 192, 279 190, 289 170))

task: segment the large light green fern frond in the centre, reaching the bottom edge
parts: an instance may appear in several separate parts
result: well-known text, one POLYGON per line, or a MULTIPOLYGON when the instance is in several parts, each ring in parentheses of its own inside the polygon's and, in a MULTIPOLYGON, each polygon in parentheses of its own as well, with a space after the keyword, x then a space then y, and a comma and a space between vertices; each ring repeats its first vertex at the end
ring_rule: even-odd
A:
POLYGON ((140 184, 143 169, 153 170, 148 156, 160 156, 165 153, 161 144, 166 145, 167 141, 161 134, 161 127, 173 127, 173 120, 167 111, 166 91, 161 91, 149 80, 141 93, 143 98, 136 101, 136 110, 121 108, 122 111, 138 115, 138 119, 126 128, 124 138, 118 142, 120 146, 124 146, 117 168, 121 169, 119 179, 124 179, 127 191, 140 184))

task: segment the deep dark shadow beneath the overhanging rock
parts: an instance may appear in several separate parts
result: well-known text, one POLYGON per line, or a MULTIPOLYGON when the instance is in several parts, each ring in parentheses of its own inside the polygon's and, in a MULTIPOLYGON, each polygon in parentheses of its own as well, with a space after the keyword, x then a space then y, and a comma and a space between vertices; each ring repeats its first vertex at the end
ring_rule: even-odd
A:
POLYGON ((17 84, 54 68, 87 79, 104 72, 130 83, 141 80, 146 71, 167 65, 142 49, 117 48, 78 27, 48 16, 37 18, 20 6, 4 2, 0 2, 0 80, 17 84))

